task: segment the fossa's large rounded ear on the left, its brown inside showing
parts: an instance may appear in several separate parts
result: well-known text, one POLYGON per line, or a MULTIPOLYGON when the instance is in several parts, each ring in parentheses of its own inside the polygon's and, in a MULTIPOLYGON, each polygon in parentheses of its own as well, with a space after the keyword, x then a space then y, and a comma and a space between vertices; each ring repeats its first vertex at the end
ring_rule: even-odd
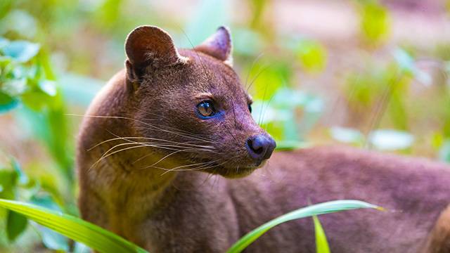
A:
POLYGON ((127 77, 138 82, 148 70, 158 70, 186 63, 187 58, 180 56, 174 41, 167 32, 159 27, 143 25, 128 34, 125 41, 127 77))

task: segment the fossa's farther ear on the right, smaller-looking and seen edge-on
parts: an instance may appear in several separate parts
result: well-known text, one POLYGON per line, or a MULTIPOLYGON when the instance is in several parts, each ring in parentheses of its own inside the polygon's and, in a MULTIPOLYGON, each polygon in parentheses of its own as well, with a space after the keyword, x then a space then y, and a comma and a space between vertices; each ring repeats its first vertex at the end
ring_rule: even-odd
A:
POLYGON ((231 56, 233 45, 231 44, 231 34, 227 27, 219 27, 217 31, 202 44, 195 47, 196 51, 206 53, 214 58, 223 60, 224 63, 232 66, 233 56, 231 56))

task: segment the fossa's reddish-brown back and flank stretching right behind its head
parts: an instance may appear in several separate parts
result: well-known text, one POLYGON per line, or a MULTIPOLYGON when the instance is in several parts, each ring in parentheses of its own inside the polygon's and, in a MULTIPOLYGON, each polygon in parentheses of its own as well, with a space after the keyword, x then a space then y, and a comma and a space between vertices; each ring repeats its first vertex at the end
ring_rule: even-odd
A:
MULTIPOLYGON (((352 148, 313 148, 276 153, 265 169, 232 181, 231 188, 242 234, 310 203, 364 200, 387 211, 319 216, 333 252, 420 252, 450 202, 450 167, 352 148)), ((315 252, 314 225, 311 219, 284 223, 248 251, 315 252)))

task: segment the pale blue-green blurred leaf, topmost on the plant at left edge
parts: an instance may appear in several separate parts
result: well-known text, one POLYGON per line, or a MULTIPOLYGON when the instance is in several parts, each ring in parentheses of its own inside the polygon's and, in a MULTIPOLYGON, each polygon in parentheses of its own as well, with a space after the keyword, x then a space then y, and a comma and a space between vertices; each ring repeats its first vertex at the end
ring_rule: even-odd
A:
POLYGON ((4 46, 2 50, 5 56, 14 58, 19 63, 25 63, 31 60, 39 52, 39 44, 28 41, 12 41, 4 46))

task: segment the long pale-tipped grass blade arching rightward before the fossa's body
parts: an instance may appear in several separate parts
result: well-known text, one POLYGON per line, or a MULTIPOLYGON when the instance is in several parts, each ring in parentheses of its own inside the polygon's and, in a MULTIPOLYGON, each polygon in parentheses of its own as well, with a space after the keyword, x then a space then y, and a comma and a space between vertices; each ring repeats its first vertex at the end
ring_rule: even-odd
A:
POLYGON ((243 238, 240 238, 238 242, 236 242, 233 246, 231 246, 227 252, 238 253, 243 251, 245 247, 248 247, 248 245, 257 240, 257 238, 266 233, 266 231, 269 231, 269 229, 273 228, 274 226, 277 226, 286 221, 292 221, 295 219, 302 219, 314 215, 328 214, 333 212, 340 212, 359 208, 375 208, 379 210, 383 209, 376 205, 372 205, 367 202, 359 200, 335 200, 323 202, 316 205, 311 205, 309 207, 303 207, 293 212, 289 212, 288 214, 283 214, 282 216, 279 216, 276 219, 264 223, 262 226, 259 226, 255 230, 250 231, 247 235, 244 235, 243 238))

